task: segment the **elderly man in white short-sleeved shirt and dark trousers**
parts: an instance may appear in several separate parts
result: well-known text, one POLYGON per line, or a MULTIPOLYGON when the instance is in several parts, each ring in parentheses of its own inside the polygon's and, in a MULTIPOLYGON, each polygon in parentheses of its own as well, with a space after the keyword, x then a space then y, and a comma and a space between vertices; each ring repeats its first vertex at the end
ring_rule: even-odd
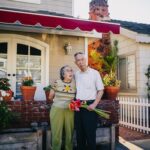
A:
POLYGON ((75 74, 76 99, 89 105, 88 110, 81 108, 75 113, 77 149, 86 150, 87 145, 89 150, 96 150, 97 115, 92 110, 101 100, 104 86, 99 72, 87 66, 84 53, 78 52, 74 58, 79 68, 75 74))

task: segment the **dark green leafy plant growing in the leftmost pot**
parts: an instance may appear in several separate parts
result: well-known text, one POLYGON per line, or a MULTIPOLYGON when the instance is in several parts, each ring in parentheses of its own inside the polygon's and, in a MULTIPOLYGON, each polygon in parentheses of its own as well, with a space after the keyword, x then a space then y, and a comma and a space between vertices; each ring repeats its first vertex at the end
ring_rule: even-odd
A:
POLYGON ((4 91, 10 90, 9 79, 0 78, 0 90, 4 90, 4 91))

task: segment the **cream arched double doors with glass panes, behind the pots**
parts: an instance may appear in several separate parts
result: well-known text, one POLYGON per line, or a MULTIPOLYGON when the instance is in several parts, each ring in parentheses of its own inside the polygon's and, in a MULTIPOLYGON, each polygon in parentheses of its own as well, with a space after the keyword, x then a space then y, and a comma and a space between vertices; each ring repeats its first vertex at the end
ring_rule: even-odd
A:
POLYGON ((43 86, 48 84, 46 48, 34 41, 0 39, 0 77, 10 79, 15 98, 21 97, 20 85, 24 76, 32 76, 37 86, 35 100, 44 100, 43 86))

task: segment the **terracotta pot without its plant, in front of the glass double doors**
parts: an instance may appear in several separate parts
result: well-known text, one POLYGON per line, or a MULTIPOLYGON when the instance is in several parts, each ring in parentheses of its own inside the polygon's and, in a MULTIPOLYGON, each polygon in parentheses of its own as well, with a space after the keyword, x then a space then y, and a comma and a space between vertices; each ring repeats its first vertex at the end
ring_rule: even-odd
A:
POLYGON ((20 90, 22 92, 24 101, 34 100, 34 95, 35 95, 35 91, 36 91, 35 86, 21 86, 20 90))

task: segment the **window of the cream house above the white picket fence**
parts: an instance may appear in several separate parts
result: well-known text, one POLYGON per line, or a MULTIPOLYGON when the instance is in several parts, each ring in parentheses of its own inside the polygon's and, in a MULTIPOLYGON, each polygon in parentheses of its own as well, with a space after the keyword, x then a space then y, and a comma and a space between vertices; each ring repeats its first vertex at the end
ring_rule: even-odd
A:
POLYGON ((121 90, 136 90, 135 55, 119 59, 119 79, 121 90))

